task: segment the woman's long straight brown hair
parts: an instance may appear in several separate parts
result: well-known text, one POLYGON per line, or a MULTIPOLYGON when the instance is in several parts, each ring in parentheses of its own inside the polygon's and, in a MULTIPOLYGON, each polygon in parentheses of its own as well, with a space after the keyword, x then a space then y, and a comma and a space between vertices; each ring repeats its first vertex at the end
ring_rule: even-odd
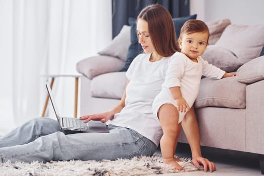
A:
POLYGON ((137 19, 148 23, 148 32, 156 52, 169 57, 179 50, 174 24, 168 10, 161 5, 154 4, 145 7, 137 19))

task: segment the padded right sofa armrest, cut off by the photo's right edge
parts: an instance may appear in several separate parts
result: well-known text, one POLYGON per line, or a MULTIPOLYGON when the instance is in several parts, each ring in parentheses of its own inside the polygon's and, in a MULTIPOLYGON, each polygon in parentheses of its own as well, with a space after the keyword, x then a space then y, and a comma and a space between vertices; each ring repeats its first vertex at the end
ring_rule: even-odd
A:
POLYGON ((238 68, 236 78, 239 82, 253 83, 264 79, 264 56, 257 57, 238 68))

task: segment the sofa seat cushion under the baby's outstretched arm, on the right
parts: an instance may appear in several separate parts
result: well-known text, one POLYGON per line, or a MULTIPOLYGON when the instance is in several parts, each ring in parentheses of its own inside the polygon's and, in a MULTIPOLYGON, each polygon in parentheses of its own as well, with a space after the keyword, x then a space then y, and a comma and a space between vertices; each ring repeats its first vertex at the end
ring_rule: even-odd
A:
POLYGON ((246 108, 246 85, 236 80, 236 76, 223 79, 203 78, 195 101, 195 108, 226 107, 246 108))

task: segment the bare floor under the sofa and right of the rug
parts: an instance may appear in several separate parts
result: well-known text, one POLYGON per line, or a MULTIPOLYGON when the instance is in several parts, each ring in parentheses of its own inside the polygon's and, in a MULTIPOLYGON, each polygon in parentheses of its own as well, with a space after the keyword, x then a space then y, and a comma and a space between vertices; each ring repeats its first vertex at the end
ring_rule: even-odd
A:
MULTIPOLYGON (((182 176, 261 176, 259 168, 258 155, 252 153, 238 152, 233 150, 223 150, 211 147, 201 147, 202 154, 213 161, 217 170, 213 173, 204 171, 181 172, 162 174, 162 176, 182 175, 182 176)), ((159 150, 157 153, 160 153, 159 150)), ((178 157, 191 157, 191 151, 188 144, 179 143, 176 155, 178 157)), ((264 176, 264 175, 263 175, 264 176)))

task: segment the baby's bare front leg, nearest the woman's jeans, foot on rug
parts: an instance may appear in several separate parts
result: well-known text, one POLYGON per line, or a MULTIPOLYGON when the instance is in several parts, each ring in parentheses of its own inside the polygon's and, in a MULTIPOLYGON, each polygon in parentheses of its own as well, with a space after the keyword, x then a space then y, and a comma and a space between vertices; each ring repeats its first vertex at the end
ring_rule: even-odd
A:
POLYGON ((177 162, 178 158, 174 158, 175 142, 178 140, 177 134, 179 129, 178 110, 171 104, 164 104, 159 108, 158 118, 163 130, 163 136, 160 139, 163 161, 175 169, 183 170, 184 168, 177 162))

